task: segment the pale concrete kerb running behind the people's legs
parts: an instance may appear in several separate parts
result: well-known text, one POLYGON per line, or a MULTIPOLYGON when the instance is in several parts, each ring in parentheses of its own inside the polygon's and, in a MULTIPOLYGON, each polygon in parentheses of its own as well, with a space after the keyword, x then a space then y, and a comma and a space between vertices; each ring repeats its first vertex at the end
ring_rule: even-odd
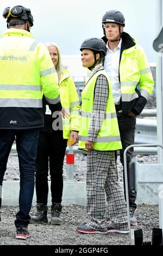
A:
MULTIPOLYGON (((48 205, 51 205, 51 190, 49 184, 48 205)), ((120 183, 123 189, 123 182, 120 183)), ((20 190, 19 181, 3 181, 2 188, 2 204, 3 205, 18 205, 18 195, 20 190)), ((158 184, 140 184, 137 191, 137 204, 159 203, 159 185, 158 184)), ((83 205, 86 206, 86 182, 65 181, 62 197, 62 205, 83 205)), ((34 192, 33 205, 36 205, 36 194, 34 192)))

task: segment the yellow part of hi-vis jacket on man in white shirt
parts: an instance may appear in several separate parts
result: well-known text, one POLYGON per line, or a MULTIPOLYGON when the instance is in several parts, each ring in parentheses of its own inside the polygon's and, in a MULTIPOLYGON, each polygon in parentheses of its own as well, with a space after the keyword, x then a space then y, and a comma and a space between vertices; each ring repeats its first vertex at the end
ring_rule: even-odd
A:
POLYGON ((136 44, 122 52, 120 80, 122 103, 139 97, 135 92, 137 86, 139 86, 141 95, 146 100, 149 99, 153 92, 154 81, 146 53, 141 46, 136 44))

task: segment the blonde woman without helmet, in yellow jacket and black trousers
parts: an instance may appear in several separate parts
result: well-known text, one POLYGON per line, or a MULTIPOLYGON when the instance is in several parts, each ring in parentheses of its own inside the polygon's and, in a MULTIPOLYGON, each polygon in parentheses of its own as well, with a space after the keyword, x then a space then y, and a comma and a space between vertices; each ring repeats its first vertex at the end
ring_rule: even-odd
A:
POLYGON ((36 158, 36 197, 37 210, 31 223, 48 223, 48 163, 51 175, 51 224, 61 224, 61 201, 63 190, 62 166, 67 146, 71 139, 72 145, 78 141, 79 131, 79 97, 72 77, 61 67, 59 48, 54 43, 46 44, 59 78, 59 91, 62 118, 58 111, 51 113, 48 102, 43 100, 45 127, 40 132, 36 158), (66 117, 66 118, 64 118, 66 117))

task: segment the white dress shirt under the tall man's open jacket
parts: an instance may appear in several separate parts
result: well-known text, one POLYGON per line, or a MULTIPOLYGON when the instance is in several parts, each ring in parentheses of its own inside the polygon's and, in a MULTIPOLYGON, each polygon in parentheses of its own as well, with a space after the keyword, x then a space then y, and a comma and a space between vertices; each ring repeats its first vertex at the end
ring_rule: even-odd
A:
POLYGON ((121 99, 121 85, 119 81, 119 63, 120 63, 120 52, 121 52, 122 39, 120 40, 114 51, 111 51, 108 42, 106 45, 107 53, 104 60, 104 69, 109 75, 112 87, 112 96, 115 105, 120 104, 121 99))

